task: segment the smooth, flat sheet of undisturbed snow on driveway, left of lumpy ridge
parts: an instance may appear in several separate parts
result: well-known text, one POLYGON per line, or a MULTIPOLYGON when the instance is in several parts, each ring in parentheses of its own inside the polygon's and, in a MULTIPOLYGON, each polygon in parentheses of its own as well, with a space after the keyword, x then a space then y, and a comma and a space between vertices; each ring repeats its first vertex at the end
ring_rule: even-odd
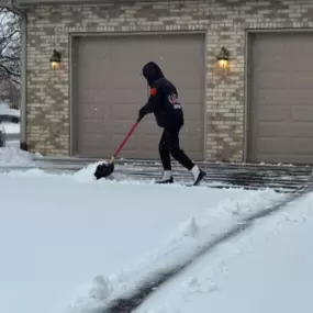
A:
MULTIPOLYGON (((86 182, 41 170, 0 176, 7 194, 0 208, 0 312, 62 312, 66 301, 54 305, 67 292, 137 264, 180 223, 225 197, 206 188, 98 183, 90 176, 86 182)), ((242 192, 228 194, 238 199, 242 192)))

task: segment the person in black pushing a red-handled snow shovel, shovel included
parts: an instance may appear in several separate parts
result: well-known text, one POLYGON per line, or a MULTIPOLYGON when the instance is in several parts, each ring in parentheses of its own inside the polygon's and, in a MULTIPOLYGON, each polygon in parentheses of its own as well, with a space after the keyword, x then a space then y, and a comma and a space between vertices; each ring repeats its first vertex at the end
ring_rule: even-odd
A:
POLYGON ((163 74, 159 66, 149 62, 143 67, 143 76, 150 88, 147 103, 141 108, 137 122, 133 125, 119 149, 113 155, 109 164, 103 163, 97 167, 94 176, 97 179, 110 176, 114 170, 114 158, 133 133, 139 121, 149 113, 154 113, 156 122, 161 127, 163 135, 158 149, 164 168, 164 176, 157 183, 172 183, 170 155, 193 176, 193 186, 198 186, 206 175, 200 169, 180 148, 179 132, 183 126, 183 111, 178 100, 178 91, 175 85, 163 74))

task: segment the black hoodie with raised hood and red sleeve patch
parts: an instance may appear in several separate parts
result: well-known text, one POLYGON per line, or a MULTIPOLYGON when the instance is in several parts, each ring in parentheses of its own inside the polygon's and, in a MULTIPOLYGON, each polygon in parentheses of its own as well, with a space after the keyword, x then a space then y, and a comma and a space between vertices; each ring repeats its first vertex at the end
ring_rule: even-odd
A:
POLYGON ((183 125, 183 113, 176 87, 154 62, 143 67, 143 75, 149 85, 150 96, 141 109, 141 115, 154 113, 160 127, 179 130, 183 125))

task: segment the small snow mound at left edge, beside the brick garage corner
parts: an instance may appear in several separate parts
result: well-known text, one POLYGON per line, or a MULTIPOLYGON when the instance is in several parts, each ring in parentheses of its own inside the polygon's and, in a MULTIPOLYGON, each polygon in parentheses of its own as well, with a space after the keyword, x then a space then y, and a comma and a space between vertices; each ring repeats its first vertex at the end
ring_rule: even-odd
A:
POLYGON ((31 154, 14 146, 2 147, 0 148, 0 166, 30 166, 34 165, 35 158, 40 156, 40 154, 31 154))

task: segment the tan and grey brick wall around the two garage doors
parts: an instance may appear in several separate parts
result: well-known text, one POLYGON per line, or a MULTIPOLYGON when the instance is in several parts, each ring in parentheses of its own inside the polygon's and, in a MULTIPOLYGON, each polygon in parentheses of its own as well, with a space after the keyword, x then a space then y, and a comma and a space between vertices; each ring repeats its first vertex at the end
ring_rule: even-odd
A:
MULTIPOLYGON (((86 1, 87 2, 87 1, 86 1)), ((205 0, 135 4, 43 5, 27 26, 27 143, 43 154, 69 153, 69 32, 204 30, 206 44, 206 158, 241 161, 245 120, 245 30, 313 27, 311 0, 205 0), (226 78, 214 71, 221 46, 231 52, 226 78), (49 70, 52 49, 62 72, 49 70)))

